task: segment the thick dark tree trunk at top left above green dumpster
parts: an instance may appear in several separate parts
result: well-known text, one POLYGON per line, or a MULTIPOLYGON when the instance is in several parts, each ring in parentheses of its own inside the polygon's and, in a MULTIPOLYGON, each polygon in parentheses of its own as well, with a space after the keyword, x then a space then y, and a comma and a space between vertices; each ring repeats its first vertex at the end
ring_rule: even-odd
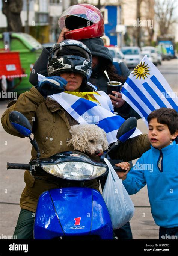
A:
POLYGON ((20 12, 23 6, 23 0, 8 0, 2 1, 2 13, 7 17, 8 31, 22 31, 22 23, 20 12))

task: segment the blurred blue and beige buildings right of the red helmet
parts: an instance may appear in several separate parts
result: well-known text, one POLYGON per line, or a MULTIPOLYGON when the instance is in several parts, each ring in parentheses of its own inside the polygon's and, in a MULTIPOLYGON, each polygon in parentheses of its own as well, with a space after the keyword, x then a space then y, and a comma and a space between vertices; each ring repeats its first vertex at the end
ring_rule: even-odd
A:
MULTIPOLYGON (((87 0, 87 3, 97 6, 98 0, 87 0)), ((155 21, 154 0, 100 0, 100 5, 105 21, 106 41, 109 38, 110 44, 118 47, 151 44, 155 21)))

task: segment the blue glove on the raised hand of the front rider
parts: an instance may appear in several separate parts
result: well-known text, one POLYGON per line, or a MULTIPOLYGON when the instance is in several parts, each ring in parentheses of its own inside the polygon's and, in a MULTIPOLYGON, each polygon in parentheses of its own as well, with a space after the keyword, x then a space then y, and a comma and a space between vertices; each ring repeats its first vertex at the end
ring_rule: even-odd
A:
POLYGON ((35 88, 41 93, 42 96, 46 97, 51 94, 56 94, 65 91, 67 81, 60 76, 45 77, 38 82, 35 88))

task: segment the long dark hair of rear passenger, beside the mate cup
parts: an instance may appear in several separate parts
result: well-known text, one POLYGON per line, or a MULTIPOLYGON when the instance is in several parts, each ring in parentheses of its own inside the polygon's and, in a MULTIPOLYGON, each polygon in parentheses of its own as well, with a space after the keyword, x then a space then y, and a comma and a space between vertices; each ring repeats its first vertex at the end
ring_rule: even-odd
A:
POLYGON ((99 59, 99 64, 100 64, 100 72, 104 74, 104 70, 107 71, 107 74, 109 76, 109 79, 111 81, 118 81, 121 83, 124 83, 127 77, 120 76, 117 74, 117 70, 115 66, 107 60, 106 58, 98 57, 99 59))

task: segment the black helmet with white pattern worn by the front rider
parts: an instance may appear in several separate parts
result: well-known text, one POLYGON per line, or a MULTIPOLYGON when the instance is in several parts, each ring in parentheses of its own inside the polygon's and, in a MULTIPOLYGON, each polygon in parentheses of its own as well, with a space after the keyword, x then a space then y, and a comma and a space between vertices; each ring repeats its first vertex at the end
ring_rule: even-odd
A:
POLYGON ((86 45, 80 41, 64 40, 52 48, 48 58, 47 70, 49 76, 55 76, 64 72, 79 73, 87 81, 92 73, 91 52, 86 45), (66 55, 65 50, 71 50, 71 55, 66 55), (74 55, 72 55, 73 52, 74 55))

